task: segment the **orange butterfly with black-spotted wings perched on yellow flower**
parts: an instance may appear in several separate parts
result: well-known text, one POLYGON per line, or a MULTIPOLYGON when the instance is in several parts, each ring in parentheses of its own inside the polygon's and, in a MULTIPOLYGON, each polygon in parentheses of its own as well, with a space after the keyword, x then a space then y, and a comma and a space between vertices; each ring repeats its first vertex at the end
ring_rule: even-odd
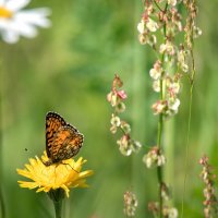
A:
POLYGON ((83 145, 83 135, 56 112, 46 116, 46 153, 50 166, 75 156, 83 145))

